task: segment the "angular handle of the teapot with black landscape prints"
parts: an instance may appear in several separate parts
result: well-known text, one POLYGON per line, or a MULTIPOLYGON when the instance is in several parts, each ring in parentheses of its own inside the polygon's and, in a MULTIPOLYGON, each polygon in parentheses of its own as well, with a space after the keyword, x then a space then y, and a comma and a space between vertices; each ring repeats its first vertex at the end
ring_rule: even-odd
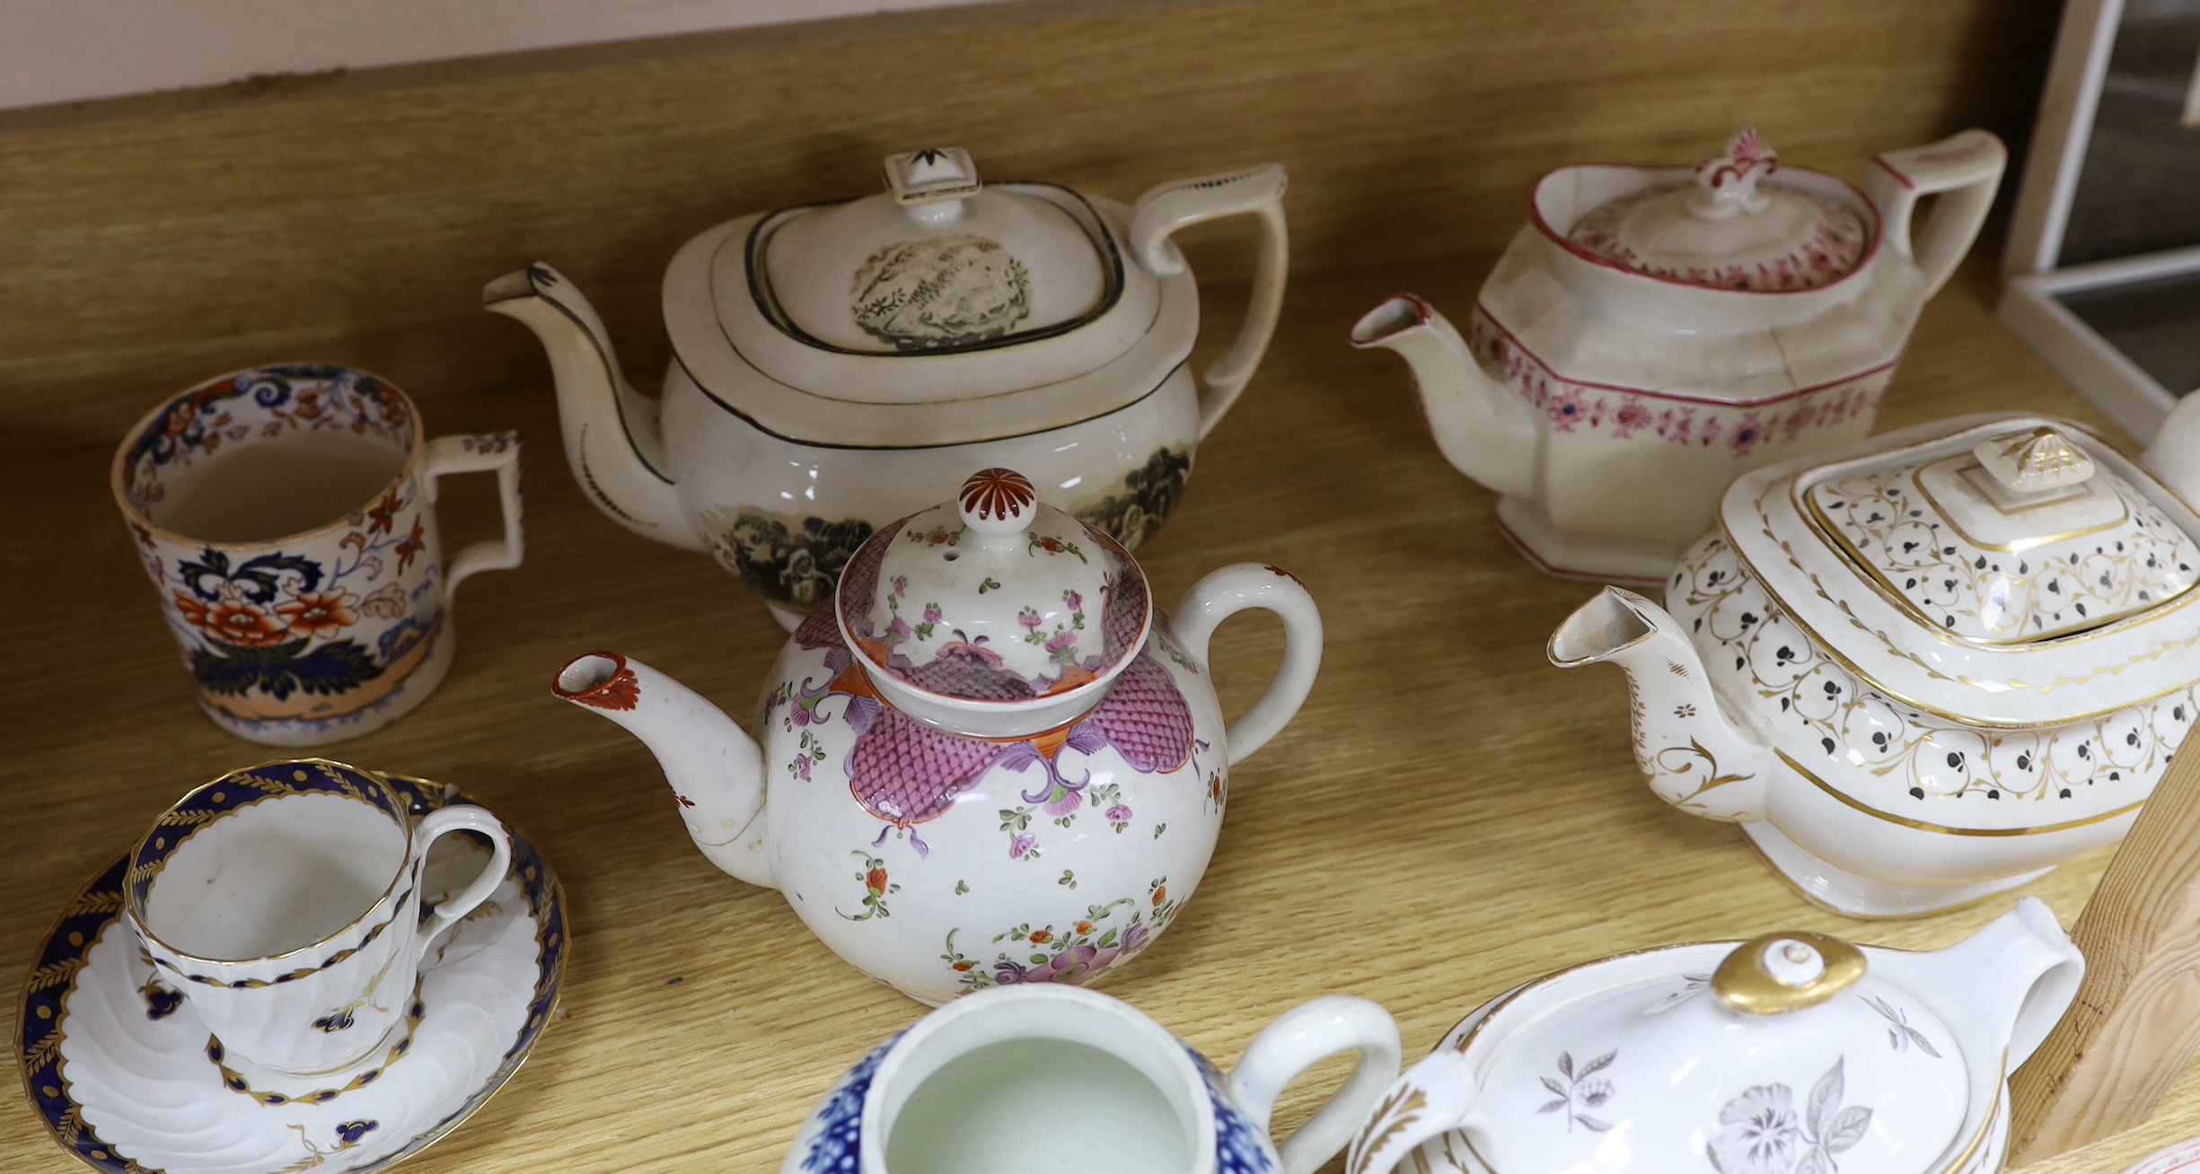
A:
POLYGON ((1221 215, 1256 213, 1261 218, 1261 255, 1252 270, 1252 303, 1245 325, 1206 374, 1199 394, 1199 438, 1221 422, 1252 378, 1267 341, 1276 334, 1283 312, 1283 277, 1291 264, 1291 235, 1283 222, 1283 189, 1289 185, 1283 167, 1263 163, 1250 171, 1164 182, 1137 198, 1131 215, 1131 255, 1157 277, 1186 273, 1184 253, 1168 240, 1177 229, 1221 215))

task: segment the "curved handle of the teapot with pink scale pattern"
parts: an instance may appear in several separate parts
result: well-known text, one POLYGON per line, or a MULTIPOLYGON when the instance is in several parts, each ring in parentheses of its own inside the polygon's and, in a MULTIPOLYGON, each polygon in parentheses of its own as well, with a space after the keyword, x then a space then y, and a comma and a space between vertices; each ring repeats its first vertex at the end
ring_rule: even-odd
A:
POLYGON ((1254 607, 1283 618, 1283 666, 1267 693, 1223 734, 1232 767, 1280 734, 1313 688, 1313 677, 1322 671, 1322 611, 1291 572, 1265 563, 1232 563, 1195 583, 1168 618, 1170 633, 1203 673, 1214 629, 1254 607))

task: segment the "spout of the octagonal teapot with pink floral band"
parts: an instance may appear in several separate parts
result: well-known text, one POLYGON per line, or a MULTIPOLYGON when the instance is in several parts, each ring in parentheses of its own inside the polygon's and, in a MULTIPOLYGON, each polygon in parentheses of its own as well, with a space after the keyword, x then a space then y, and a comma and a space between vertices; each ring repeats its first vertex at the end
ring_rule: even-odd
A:
POLYGON ((1452 468, 1507 497, 1533 495, 1536 411, 1483 372, 1434 306, 1415 295, 1393 297, 1353 325, 1353 345, 1395 350, 1412 367, 1428 431, 1452 468))

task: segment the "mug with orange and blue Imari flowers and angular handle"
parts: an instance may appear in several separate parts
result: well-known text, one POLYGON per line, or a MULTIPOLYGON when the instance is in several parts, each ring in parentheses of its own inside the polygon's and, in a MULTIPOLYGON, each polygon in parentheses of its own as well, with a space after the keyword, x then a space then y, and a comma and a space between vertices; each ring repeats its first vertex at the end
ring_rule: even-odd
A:
POLYGON ((348 367, 207 380, 130 431, 112 484, 200 708, 268 745, 411 712, 451 666, 451 594, 524 552, 519 435, 425 440, 411 398, 348 367), (504 536, 444 563, 436 481, 488 470, 504 536))

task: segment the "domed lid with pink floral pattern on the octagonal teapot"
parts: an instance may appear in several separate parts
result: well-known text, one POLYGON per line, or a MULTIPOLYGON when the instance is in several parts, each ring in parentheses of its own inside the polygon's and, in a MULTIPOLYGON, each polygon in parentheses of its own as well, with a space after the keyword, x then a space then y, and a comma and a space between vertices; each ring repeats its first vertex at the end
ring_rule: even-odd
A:
POLYGON ((1870 229, 1855 209, 1773 180, 1780 154, 1742 130, 1696 176, 1582 215, 1566 240, 1597 259, 1714 290, 1795 292, 1855 273, 1870 229))

